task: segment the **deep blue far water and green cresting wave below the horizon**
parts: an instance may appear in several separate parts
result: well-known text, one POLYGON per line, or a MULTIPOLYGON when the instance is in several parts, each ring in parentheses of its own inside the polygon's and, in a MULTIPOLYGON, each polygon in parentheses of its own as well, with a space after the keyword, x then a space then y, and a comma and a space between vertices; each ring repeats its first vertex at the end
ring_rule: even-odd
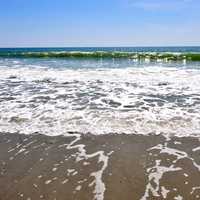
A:
POLYGON ((0 58, 128 59, 137 62, 199 62, 200 52, 199 47, 13 48, 1 49, 0 58))

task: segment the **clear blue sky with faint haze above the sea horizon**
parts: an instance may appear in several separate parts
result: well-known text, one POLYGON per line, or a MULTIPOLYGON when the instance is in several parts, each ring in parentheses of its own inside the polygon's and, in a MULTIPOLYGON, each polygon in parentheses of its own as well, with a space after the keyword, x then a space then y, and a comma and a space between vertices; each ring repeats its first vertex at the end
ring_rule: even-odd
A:
POLYGON ((200 0, 1 0, 0 47, 200 45, 200 0))

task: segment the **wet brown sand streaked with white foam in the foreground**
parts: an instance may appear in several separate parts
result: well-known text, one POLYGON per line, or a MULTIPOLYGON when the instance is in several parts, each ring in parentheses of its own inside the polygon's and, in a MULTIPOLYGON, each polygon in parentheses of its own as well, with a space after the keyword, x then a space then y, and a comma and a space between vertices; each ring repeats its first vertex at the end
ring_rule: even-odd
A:
POLYGON ((200 141, 0 134, 0 200, 200 199, 200 141))

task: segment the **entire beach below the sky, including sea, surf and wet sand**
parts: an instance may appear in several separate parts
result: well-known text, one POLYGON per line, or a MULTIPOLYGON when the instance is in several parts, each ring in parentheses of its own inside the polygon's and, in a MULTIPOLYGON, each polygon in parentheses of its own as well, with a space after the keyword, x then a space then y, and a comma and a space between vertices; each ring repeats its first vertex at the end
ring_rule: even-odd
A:
POLYGON ((0 50, 0 200, 200 199, 200 48, 122 50, 0 50))

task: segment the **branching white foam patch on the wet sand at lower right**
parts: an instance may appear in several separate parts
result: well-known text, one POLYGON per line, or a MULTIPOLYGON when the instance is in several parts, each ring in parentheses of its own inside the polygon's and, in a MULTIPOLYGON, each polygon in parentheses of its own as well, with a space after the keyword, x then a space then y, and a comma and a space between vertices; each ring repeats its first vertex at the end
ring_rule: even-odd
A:
MULTIPOLYGON (((164 199, 167 198, 168 193, 171 193, 170 190, 167 190, 162 186, 162 178, 166 173, 176 172, 176 171, 183 171, 182 167, 179 167, 179 161, 188 159, 192 162, 194 168, 199 172, 200 171, 200 165, 196 163, 193 157, 191 157, 189 154, 187 154, 184 151, 170 148, 167 146, 168 144, 158 144, 150 149, 149 155, 153 156, 152 151, 158 151, 159 155, 167 154, 169 156, 173 157, 173 160, 170 162, 170 165, 163 165, 165 162, 163 160, 155 160, 155 163, 147 168, 147 174, 148 174, 148 183, 146 185, 145 193, 141 200, 147 200, 150 195, 152 194, 154 197, 163 197, 164 199), (160 196, 161 193, 161 196, 160 196)), ((154 153, 155 155, 155 153, 154 153)), ((164 158, 161 156, 161 158, 164 158)), ((184 177, 189 177, 188 174, 182 173, 184 177)), ((189 182, 186 180, 185 185, 188 185, 189 182)), ((191 194, 198 189, 199 187, 192 188, 191 194)), ((180 199, 179 196, 177 196, 177 199, 180 199)))

